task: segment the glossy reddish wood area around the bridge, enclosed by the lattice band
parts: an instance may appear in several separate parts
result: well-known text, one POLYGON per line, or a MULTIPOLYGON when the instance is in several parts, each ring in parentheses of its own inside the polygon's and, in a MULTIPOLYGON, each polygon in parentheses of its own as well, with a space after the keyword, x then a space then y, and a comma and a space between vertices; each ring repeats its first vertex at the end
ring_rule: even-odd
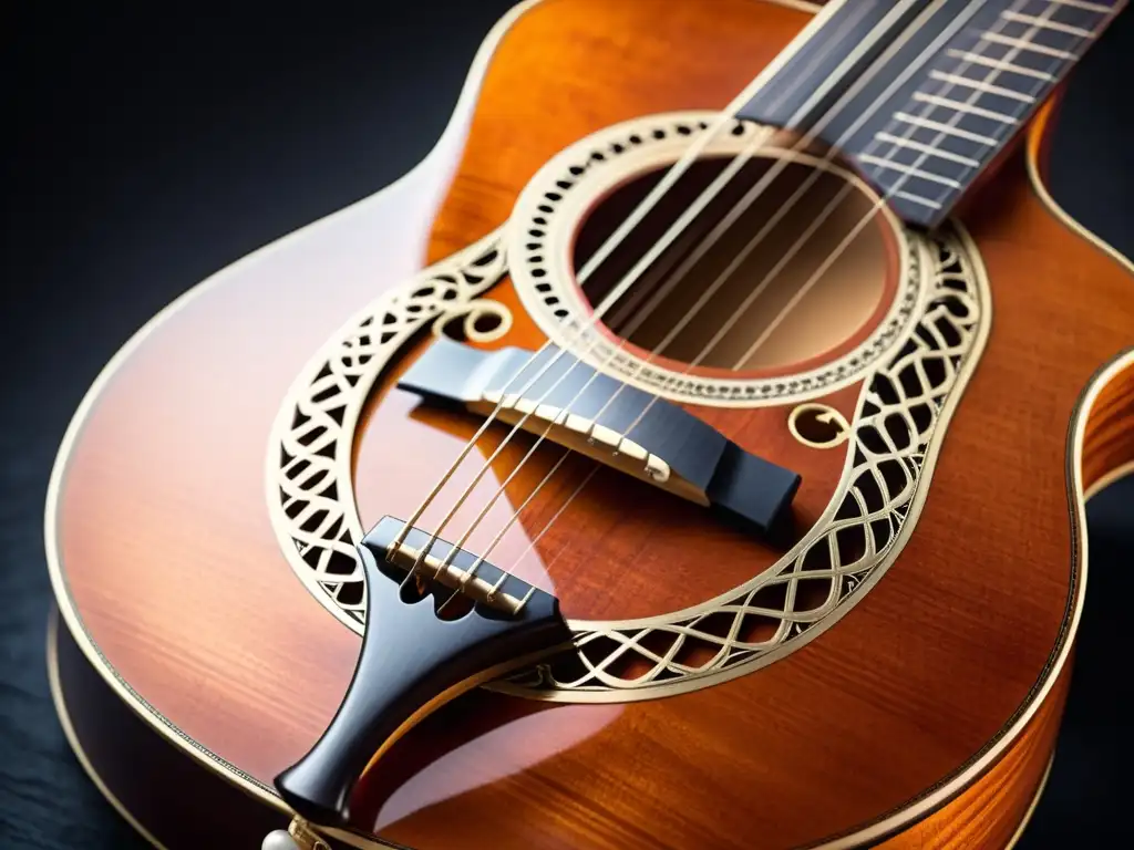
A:
MULTIPOLYGON (((544 338, 530 328, 534 328, 531 320, 519 314, 503 342, 539 348, 544 338)), ((482 423, 467 415, 418 408, 418 397, 393 389, 401 372, 392 369, 375 394, 356 452, 355 492, 364 525, 373 525, 383 516, 411 516, 482 423), (413 452, 389 450, 398 444, 416 448, 413 452), (396 493, 391 493, 390 482, 399 483, 396 493)), ((856 384, 819 400, 849 420, 860 389, 856 384)), ((829 450, 801 445, 787 427, 790 408, 689 409, 741 445, 798 471, 803 484, 794 502, 795 521, 801 529, 814 525, 838 484, 846 460, 845 443, 829 450)), ((442 496, 430 503, 418 526, 439 526, 509 431, 500 425, 479 441, 477 451, 457 467, 442 496)), ((508 443, 446 526, 449 539, 458 538, 475 524, 484 503, 534 442, 534 436, 521 435, 508 443)), ((476 525, 465 546, 485 551, 561 454, 562 450, 555 447, 538 450, 508 484, 505 498, 476 525)), ((578 456, 566 461, 491 555, 493 563, 553 587, 569 618, 653 617, 695 605, 746 581, 786 551, 784 545, 764 545, 706 521, 704 511, 696 505, 609 469, 599 470, 556 518, 593 467, 592 461, 578 456), (706 564, 712 569, 706 570, 706 564)))

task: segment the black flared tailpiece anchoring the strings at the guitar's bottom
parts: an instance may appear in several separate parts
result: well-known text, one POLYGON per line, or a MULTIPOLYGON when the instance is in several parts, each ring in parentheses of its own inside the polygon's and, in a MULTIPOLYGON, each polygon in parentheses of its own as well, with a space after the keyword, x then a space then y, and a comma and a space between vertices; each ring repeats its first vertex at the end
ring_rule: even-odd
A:
MULTIPOLYGON (((403 522, 384 518, 358 546, 366 569, 367 617, 354 679, 335 719, 299 762, 276 777, 276 789, 297 815, 322 826, 345 827, 350 792, 367 765, 418 720, 460 692, 570 640, 555 596, 481 561, 475 583, 491 587, 493 601, 481 601, 463 617, 442 619, 439 606, 452 590, 433 581, 425 566, 406 578, 405 558, 430 535, 411 529, 397 544, 403 522), (420 590, 416 580, 432 587, 420 590), (502 579, 502 580, 501 580, 502 579), (522 604, 518 601, 525 600, 522 604)), ((443 578, 451 586, 467 576, 476 558, 438 539, 426 564, 448 560, 443 578)))

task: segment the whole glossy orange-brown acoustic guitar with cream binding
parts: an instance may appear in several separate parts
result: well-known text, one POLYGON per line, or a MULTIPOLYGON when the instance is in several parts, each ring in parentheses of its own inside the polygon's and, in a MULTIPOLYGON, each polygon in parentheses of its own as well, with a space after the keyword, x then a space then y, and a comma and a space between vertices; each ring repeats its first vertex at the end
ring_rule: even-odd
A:
POLYGON ((528 0, 434 150, 76 414, 51 678, 168 848, 1005 848, 1131 264, 1043 185, 1117 0, 528 0))

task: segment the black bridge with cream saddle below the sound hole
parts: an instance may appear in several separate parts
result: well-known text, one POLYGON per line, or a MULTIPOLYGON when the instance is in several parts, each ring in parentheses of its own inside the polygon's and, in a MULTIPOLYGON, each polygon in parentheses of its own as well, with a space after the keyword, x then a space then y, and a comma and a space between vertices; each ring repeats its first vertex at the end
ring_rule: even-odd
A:
POLYGON ((795 471, 745 451, 680 406, 555 346, 535 354, 482 351, 441 339, 398 386, 518 425, 759 536, 779 526, 801 483, 795 471))

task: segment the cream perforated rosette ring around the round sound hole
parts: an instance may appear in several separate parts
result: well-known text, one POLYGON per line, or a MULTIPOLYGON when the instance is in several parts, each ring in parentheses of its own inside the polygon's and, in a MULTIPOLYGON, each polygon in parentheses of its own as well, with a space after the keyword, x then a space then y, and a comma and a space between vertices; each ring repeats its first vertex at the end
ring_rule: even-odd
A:
MULTIPOLYGON (((637 118, 589 136, 551 159, 535 175, 516 203, 509 230, 508 256, 516 291, 532 318, 560 348, 569 347, 595 368, 672 401, 722 407, 752 407, 804 400, 855 381, 909 330, 922 278, 914 240, 903 238, 903 269, 898 296, 881 323, 857 347, 840 357, 790 377, 713 377, 688 375, 636 357, 590 321, 592 311, 572 279, 573 233, 581 214, 608 192, 651 167, 668 167, 709 130, 714 112, 674 112, 637 118)), ((704 155, 741 154, 768 128, 733 119, 709 139, 704 155)), ((873 190, 856 176, 822 158, 765 143, 761 155, 809 163, 841 175, 864 193, 873 190)))

